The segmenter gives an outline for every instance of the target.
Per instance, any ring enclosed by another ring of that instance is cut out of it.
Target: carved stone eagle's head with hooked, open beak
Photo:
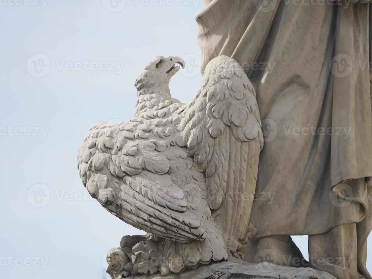
[[[179,57],[170,56],[165,58],[157,56],[149,62],[136,78],[134,86],[137,89],[138,96],[143,94],[154,94],[165,91],[169,94],[169,81],[180,69],[185,68],[185,61]]]

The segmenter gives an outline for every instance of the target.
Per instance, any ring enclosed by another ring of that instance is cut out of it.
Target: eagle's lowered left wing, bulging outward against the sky
[[[184,243],[204,240],[200,219],[186,211],[183,191],[167,174],[170,162],[161,151],[170,142],[150,132],[151,125],[138,118],[92,125],[78,151],[83,184],[104,208],[138,229]],[[182,148],[173,152],[187,157]]]

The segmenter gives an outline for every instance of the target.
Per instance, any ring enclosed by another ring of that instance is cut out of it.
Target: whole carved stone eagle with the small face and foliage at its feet
[[[243,68],[219,56],[196,96],[173,99],[170,78],[185,62],[158,56],[135,81],[134,118],[97,122],[78,151],[90,195],[144,236],[107,255],[112,278],[194,269],[244,257],[263,135],[256,93]],[[132,238],[132,239],[131,239]]]

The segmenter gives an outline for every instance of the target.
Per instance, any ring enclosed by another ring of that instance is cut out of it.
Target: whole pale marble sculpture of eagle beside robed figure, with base
[[[195,98],[171,98],[185,62],[157,57],[134,118],[93,124],[78,152],[90,195],[147,232],[124,236],[107,272],[372,279],[369,0],[204,3]],[[308,259],[291,235],[309,236]]]

